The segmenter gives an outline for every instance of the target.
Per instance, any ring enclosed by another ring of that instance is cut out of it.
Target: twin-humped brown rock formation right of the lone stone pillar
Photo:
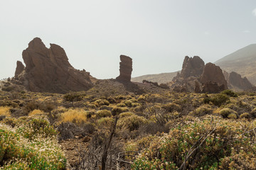
[[[227,81],[220,67],[204,64],[200,57],[185,57],[181,74],[169,84],[177,92],[218,93],[228,89]]]

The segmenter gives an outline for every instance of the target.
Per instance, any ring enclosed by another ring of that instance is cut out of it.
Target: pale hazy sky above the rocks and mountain
[[[255,0],[1,0],[0,79],[35,37],[65,49],[70,64],[97,79],[119,75],[119,55],[132,77],[174,72],[183,58],[215,62],[256,43]]]

